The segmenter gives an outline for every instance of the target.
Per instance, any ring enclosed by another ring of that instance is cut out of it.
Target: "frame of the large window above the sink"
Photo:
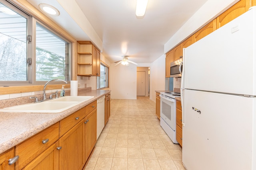
[[[56,37],[62,39],[63,41],[66,41],[69,43],[69,59],[68,59],[68,80],[72,80],[72,70],[73,70],[73,62],[72,58],[74,56],[74,38],[73,37],[67,37],[66,32],[62,33],[64,31],[63,29],[58,30],[59,26],[58,25],[52,25],[51,23],[48,23],[47,20],[42,19],[42,15],[35,15],[33,11],[30,11],[31,14],[28,14],[26,10],[22,6],[18,6],[12,2],[9,2],[8,0],[0,0],[2,4],[7,6],[8,8],[14,10],[16,13],[20,14],[24,18],[27,19],[27,29],[26,29],[26,34],[27,35],[32,35],[32,43],[28,43],[26,41],[26,59],[32,58],[32,68],[27,65],[27,81],[0,81],[0,86],[30,86],[30,85],[42,85],[45,84],[47,81],[36,81],[36,23],[39,23],[42,25],[44,28],[46,28],[48,31],[53,33]],[[21,8],[22,7],[22,8]],[[25,6],[25,9],[29,9],[28,7]],[[37,17],[34,17],[37,16]],[[54,27],[57,26],[57,27]],[[27,36],[26,35],[26,36]],[[71,38],[71,40],[70,40]],[[66,78],[65,78],[66,79]],[[61,82],[53,82],[52,84],[62,84]]]

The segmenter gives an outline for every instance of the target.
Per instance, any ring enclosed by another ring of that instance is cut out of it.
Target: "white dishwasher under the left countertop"
[[[105,126],[105,95],[97,100],[97,139]]]

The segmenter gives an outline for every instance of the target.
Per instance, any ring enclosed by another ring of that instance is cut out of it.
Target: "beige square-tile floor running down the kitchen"
[[[184,170],[182,149],[160,126],[152,100],[110,104],[111,116],[84,170]]]

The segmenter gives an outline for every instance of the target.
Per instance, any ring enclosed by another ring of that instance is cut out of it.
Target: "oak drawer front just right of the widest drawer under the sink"
[[[60,137],[85,117],[85,107],[60,121]]]

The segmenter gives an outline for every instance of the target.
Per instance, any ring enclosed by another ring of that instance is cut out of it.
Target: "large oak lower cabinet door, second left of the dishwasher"
[[[64,134],[60,139],[60,170],[81,170],[85,164],[84,119]]]

